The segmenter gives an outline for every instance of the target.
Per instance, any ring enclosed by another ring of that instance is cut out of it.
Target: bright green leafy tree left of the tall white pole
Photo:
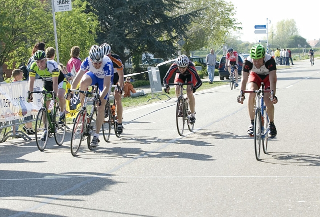
[[[39,0],[0,0],[0,5],[0,66],[7,61],[11,67],[30,55],[35,42],[48,40],[52,15]]]

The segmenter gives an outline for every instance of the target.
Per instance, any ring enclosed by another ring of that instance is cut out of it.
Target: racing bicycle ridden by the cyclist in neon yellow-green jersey
[[[35,119],[35,142],[40,151],[45,149],[48,138],[54,135],[54,140],[58,146],[61,146],[65,137],[65,118],[64,122],[59,124],[60,108],[54,99],[54,91],[28,91],[28,99],[30,94],[39,94],[41,96],[42,107],[39,109]],[[46,102],[53,100],[52,111],[46,108]],[[46,133],[45,133],[46,132]]]

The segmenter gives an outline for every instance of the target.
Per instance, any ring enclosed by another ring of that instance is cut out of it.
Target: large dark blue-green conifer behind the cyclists
[[[88,0],[87,11],[98,16],[101,32],[97,41],[110,44],[120,58],[127,60],[141,53],[159,58],[175,54],[175,43],[185,35],[191,19],[199,11],[170,16],[181,11],[179,0]],[[93,9],[94,8],[94,9]],[[124,49],[129,53],[124,56]]]

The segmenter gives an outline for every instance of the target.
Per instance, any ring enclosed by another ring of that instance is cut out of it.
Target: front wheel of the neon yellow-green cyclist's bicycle
[[[44,132],[45,135],[44,135]],[[42,137],[44,135],[44,137]],[[46,117],[46,109],[44,107],[40,108],[35,119],[35,143],[40,151],[43,151],[46,144],[48,143],[49,129],[48,120]]]

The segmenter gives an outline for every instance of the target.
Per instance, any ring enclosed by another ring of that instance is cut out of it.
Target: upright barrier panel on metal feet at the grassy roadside
[[[158,67],[148,67],[148,76],[149,76],[149,81],[150,81],[150,88],[151,88],[151,95],[152,98],[148,99],[147,102],[151,99],[159,99],[161,100],[158,96],[164,95],[167,96],[169,99],[171,99],[167,94],[162,93],[162,84],[161,84],[161,78],[160,78],[160,72]],[[155,93],[160,93],[157,94],[156,96],[153,96]]]

